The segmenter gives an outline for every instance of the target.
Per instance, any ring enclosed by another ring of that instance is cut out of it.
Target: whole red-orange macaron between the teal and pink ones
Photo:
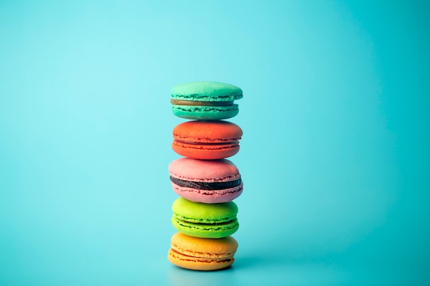
[[[173,128],[172,149],[181,156],[215,160],[239,151],[242,129],[229,121],[187,121]]]

